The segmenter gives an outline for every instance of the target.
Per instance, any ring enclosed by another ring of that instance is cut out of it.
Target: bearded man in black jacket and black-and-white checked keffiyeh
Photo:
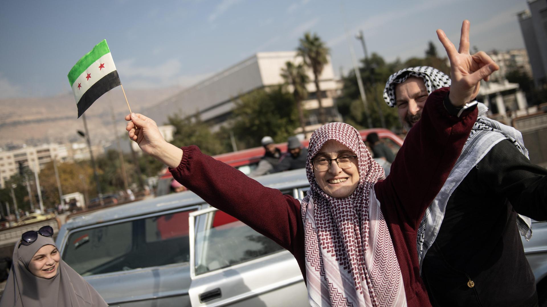
[[[435,68],[405,68],[389,77],[383,96],[410,130],[429,94],[450,84]],[[530,163],[519,131],[477,107],[462,153],[418,228],[420,273],[433,306],[537,306],[520,235],[532,236],[529,217],[547,220],[547,170]]]

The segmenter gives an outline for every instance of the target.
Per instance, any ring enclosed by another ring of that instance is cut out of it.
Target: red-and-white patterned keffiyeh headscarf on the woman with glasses
[[[357,155],[359,184],[346,198],[317,184],[311,158],[328,140]],[[312,306],[406,306],[401,270],[374,184],[385,178],[357,129],[328,123],[313,132],[306,161],[311,188],[302,200],[306,279]]]

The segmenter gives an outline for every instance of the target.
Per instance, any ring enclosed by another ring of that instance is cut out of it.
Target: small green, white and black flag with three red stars
[[[68,81],[78,105],[78,118],[104,93],[121,85],[106,39],[80,58],[68,73]]]

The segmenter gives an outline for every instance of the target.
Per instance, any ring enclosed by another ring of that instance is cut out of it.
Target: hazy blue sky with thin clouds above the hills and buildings
[[[344,4],[342,14],[341,3]],[[463,19],[481,50],[523,48],[515,14],[526,0],[2,1],[0,98],[70,92],[67,73],[106,38],[125,88],[188,86],[258,51],[294,50],[305,31],[331,48],[335,73],[351,67],[353,38],[386,60],[423,56],[442,28],[457,46]]]

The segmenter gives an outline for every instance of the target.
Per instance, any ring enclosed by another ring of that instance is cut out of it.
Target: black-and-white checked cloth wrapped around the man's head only
[[[383,89],[383,99],[389,107],[395,107],[395,86],[411,76],[423,79],[429,95],[441,87],[450,86],[450,77],[433,67],[418,66],[401,69],[389,76],[386,87]]]

